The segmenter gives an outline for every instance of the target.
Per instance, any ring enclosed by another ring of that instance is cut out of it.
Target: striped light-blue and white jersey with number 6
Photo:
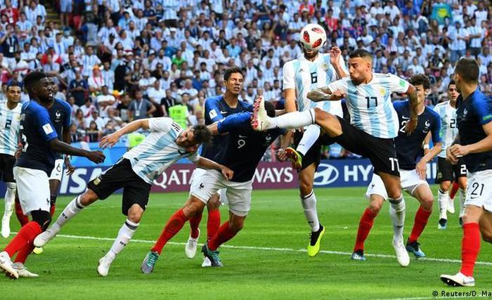
[[[340,56],[339,63],[344,67],[344,59]],[[309,91],[328,86],[337,80],[337,72],[330,63],[329,53],[319,53],[313,60],[306,60],[304,56],[290,60],[283,66],[283,89],[295,89],[299,112],[319,107],[332,115],[343,117],[342,104],[339,101],[313,102],[307,98]]]

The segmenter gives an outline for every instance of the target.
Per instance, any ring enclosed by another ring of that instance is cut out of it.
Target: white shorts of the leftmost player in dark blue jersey
[[[45,171],[13,167],[13,176],[24,214],[30,214],[34,210],[49,211],[49,181]]]

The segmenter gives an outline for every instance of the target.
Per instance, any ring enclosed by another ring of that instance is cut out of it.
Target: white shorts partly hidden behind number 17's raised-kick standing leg
[[[422,180],[415,170],[402,170],[400,169],[400,181],[401,188],[410,195],[418,188],[419,185],[429,185],[427,181]],[[368,190],[365,192],[365,197],[370,199],[370,195],[380,195],[384,200],[388,200],[388,193],[384,188],[384,183],[379,175],[373,174],[373,179],[368,185]]]

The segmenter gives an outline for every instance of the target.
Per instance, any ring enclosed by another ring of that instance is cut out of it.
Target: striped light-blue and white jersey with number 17
[[[406,93],[409,85],[408,81],[393,74],[373,73],[368,84],[355,85],[345,77],[329,84],[328,89],[345,93],[350,122],[357,129],[376,138],[396,138],[399,121],[391,103],[391,93]]]

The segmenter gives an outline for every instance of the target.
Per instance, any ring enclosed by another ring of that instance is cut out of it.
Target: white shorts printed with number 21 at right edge
[[[484,207],[492,212],[492,170],[468,173],[467,200],[465,206]]]

